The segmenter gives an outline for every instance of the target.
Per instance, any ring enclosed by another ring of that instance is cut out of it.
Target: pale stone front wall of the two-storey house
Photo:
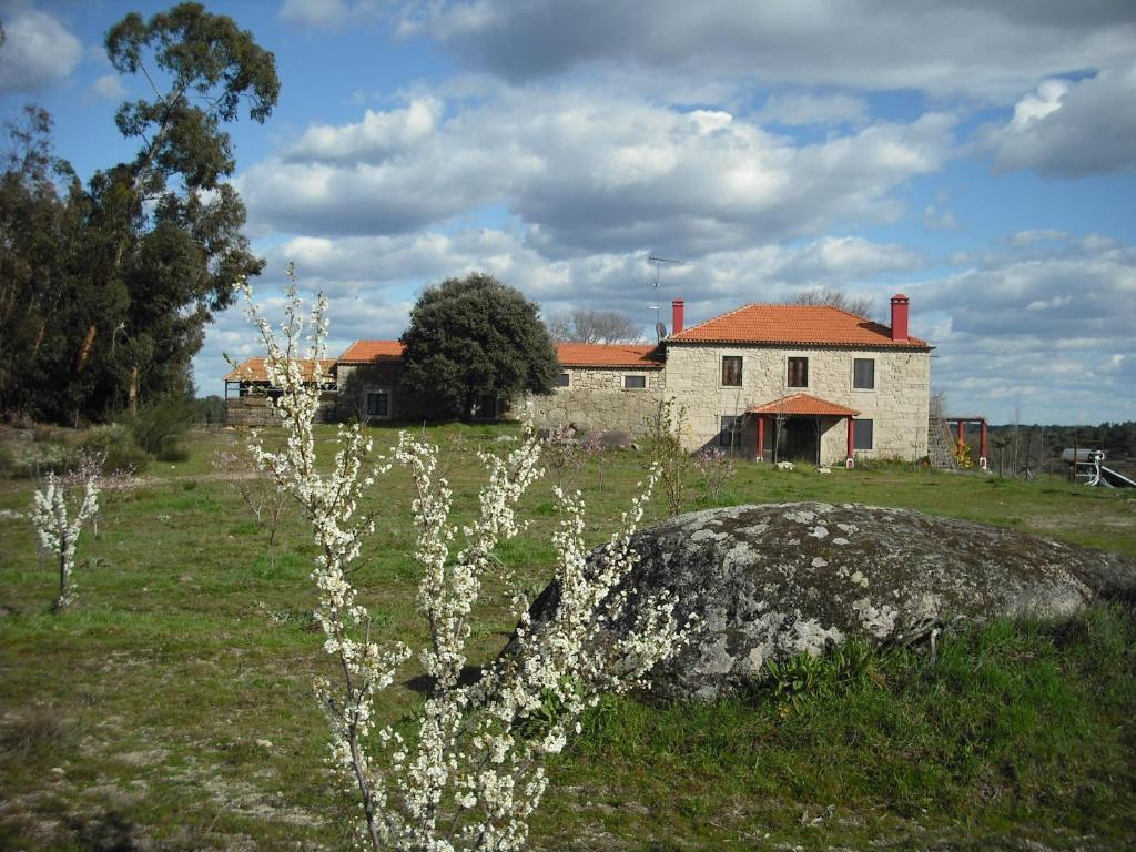
[[[721,385],[722,356],[742,356],[741,387]],[[790,357],[809,359],[808,387],[786,386],[786,359]],[[875,390],[852,389],[854,358],[875,359]],[[674,396],[686,409],[683,443],[690,450],[717,445],[724,415],[741,415],[746,408],[804,392],[855,409],[860,411],[859,419],[872,420],[874,446],[858,453],[904,459],[927,454],[928,352],[671,344],[667,346],[666,370],[666,395]],[[767,432],[770,425],[767,419]],[[845,457],[846,420],[821,418],[821,429],[822,461],[840,463]],[[752,416],[746,418],[740,437],[740,452],[753,458],[757,425]]]

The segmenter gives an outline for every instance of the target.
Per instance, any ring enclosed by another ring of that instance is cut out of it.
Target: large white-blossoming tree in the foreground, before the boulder
[[[319,680],[317,694],[331,722],[333,766],[360,803],[360,840],[374,850],[519,849],[548,783],[541,758],[563,749],[579,730],[580,713],[602,693],[643,685],[650,669],[685,641],[690,625],[676,624],[670,596],[653,598],[632,616],[620,586],[637,560],[632,534],[657,474],[592,559],[584,548],[578,493],[553,490],[561,510],[553,535],[560,605],[550,620],[533,624],[528,601],[515,588],[519,624],[508,653],[486,665],[475,683],[460,683],[471,613],[486,574],[500,565],[494,548],[521,528],[517,501],[541,476],[540,441],[528,429],[512,452],[481,454],[488,482],[475,519],[466,525],[451,517],[452,492],[438,473],[437,449],[406,433],[389,458],[368,467],[370,440],[357,423],[341,426],[334,463],[321,470],[312,435],[320,376],[306,384],[300,371],[304,320],[294,283],[279,334],[260,316],[248,286],[245,298],[266,348],[268,378],[282,392],[272,409],[286,433],[279,450],[267,450],[258,433],[251,446],[277,485],[299,502],[318,546],[316,616],[337,675],[335,683]],[[325,354],[326,310],[320,296],[302,356],[317,371]],[[412,651],[373,635],[370,615],[351,580],[374,529],[373,519],[360,515],[360,496],[395,463],[409,470],[416,493],[414,556],[423,571],[417,602],[429,636],[418,659],[433,684],[412,737],[381,725],[376,707]],[[632,618],[635,629],[626,638],[605,635],[605,624]]]

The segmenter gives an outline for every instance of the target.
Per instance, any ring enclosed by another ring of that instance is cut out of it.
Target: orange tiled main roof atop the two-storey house
[[[894,341],[887,326],[855,314],[810,304],[746,304],[673,334],[667,342],[930,348],[918,337]]]

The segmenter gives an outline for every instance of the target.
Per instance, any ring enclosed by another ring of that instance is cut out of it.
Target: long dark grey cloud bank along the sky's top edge
[[[1136,7],[1110,0],[657,0],[649,11],[618,0],[423,0],[403,9],[401,33],[434,37],[512,81],[615,64],[1003,100],[1039,77],[1126,61],[1136,41]]]

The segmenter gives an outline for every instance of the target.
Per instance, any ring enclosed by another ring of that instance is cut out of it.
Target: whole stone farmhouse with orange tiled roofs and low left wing
[[[673,399],[691,451],[717,446],[758,461],[850,466],[858,456],[927,454],[932,346],[908,334],[905,295],[892,299],[891,326],[836,308],[747,304],[685,328],[683,301],[673,308],[674,331],[658,344],[558,343],[562,371],[551,395],[488,398],[478,414],[495,419],[524,407],[538,426],[637,433]],[[251,410],[243,400],[253,384],[241,384],[241,375],[262,376],[257,360],[226,376],[231,423]],[[398,341],[357,341],[329,374],[328,419],[435,416],[431,400],[401,387]]]

